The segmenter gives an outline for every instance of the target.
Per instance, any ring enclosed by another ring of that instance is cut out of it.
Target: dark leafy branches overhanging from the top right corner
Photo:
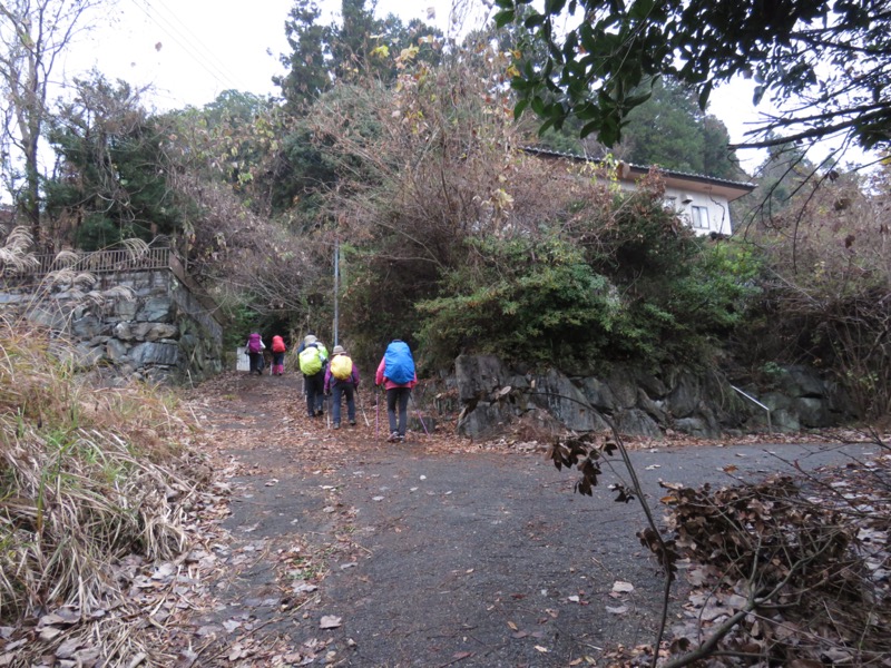
[[[496,21],[507,24],[530,0],[497,2]],[[787,112],[741,146],[833,137],[866,149],[891,144],[889,0],[554,0],[523,26],[531,41],[547,42],[548,58],[539,66],[520,57],[515,111],[531,107],[542,128],[575,115],[582,136],[613,145],[649,96],[642,84],[674,77],[695,87],[705,109],[716,86],[745,75],[757,81],[755,104],[767,95]]]

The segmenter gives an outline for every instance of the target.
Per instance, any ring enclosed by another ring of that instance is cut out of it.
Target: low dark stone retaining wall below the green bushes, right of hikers
[[[658,373],[613,365],[603,376],[570,377],[559,371],[520,373],[491,355],[462,355],[448,381],[457,390],[459,433],[490,438],[517,419],[536,414],[576,432],[660,438],[668,430],[702,438],[767,428],[767,412],[743,399],[719,372],[668,367]],[[770,391],[742,387],[771,409],[775,431],[850,421],[852,411],[835,384],[813,370],[784,370]]]

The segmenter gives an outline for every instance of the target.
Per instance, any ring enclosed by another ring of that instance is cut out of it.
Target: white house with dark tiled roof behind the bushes
[[[562,159],[574,163],[601,160],[556,150],[526,147],[523,150],[546,159]],[[649,167],[619,163],[616,170],[619,185],[633,190],[637,181],[649,173]],[[687,222],[697,235],[730,235],[733,233],[730,203],[755,189],[755,184],[733,181],[723,178],[686,174],[662,169],[665,181],[665,204]]]

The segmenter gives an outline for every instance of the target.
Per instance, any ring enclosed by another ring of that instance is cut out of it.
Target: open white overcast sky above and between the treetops
[[[332,14],[341,7],[340,0],[319,4]],[[482,0],[457,4],[379,0],[376,13],[396,13],[405,22],[420,18],[452,35],[486,13]],[[109,79],[151,85],[147,101],[157,109],[200,107],[227,89],[277,94],[272,77],[284,73],[280,56],[288,51],[284,22],[292,6],[293,0],[117,0],[114,10],[96,18],[56,76],[70,79],[96,67]],[[466,18],[453,23],[453,17]],[[744,139],[746,124],[757,118],[753,86],[740,81],[712,95],[709,111],[724,121],[734,143]],[[740,157],[751,173],[763,153],[743,151]]]

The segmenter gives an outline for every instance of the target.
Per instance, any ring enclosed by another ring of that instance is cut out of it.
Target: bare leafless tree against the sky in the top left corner
[[[0,87],[3,143],[21,154],[23,186],[14,177],[13,158],[2,151],[8,187],[40,244],[39,144],[47,118],[50,77],[60,53],[71,43],[87,12],[106,0],[0,1]]]

